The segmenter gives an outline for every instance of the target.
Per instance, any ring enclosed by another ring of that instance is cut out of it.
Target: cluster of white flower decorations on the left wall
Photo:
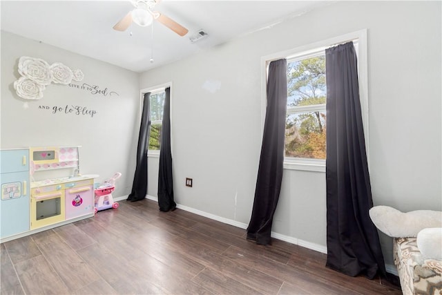
[[[20,57],[19,74],[22,77],[14,82],[14,89],[24,99],[41,99],[44,89],[51,82],[67,85],[72,80],[81,81],[84,78],[79,69],[71,70],[60,62],[49,65],[35,57]]]

